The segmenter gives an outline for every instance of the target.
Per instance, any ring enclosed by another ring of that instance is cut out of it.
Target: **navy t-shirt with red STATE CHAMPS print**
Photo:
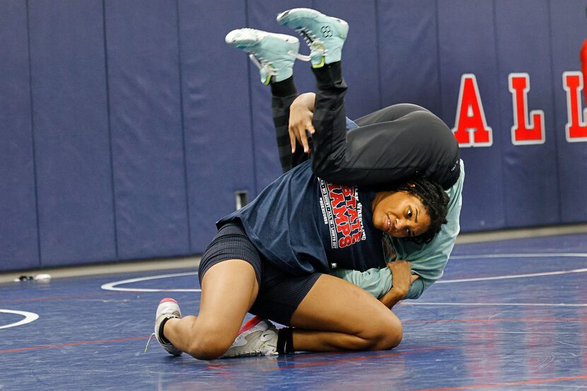
[[[239,220],[257,250],[291,274],[385,267],[383,233],[373,226],[374,192],[332,185],[310,161],[267,186],[250,204],[216,223]]]

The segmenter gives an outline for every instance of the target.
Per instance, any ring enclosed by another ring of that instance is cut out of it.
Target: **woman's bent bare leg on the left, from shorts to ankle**
[[[234,342],[258,292],[255,270],[248,262],[231,259],[215,264],[202,280],[199,315],[168,320],[163,334],[195,358],[218,358]]]

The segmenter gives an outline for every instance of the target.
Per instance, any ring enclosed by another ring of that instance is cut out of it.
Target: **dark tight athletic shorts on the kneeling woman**
[[[314,286],[320,273],[294,276],[270,264],[252,244],[243,226],[234,221],[222,226],[199,263],[199,282],[219,262],[243,259],[255,269],[259,294],[249,313],[289,326],[291,315]]]

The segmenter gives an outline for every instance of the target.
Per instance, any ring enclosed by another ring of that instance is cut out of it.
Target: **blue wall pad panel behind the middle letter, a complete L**
[[[499,0],[495,6],[499,101],[504,103],[499,129],[504,137],[496,148],[501,150],[504,158],[506,226],[557,223],[558,162],[548,2]],[[579,47],[572,49],[579,50]],[[544,110],[545,144],[514,146],[511,142],[513,110],[508,74],[512,72],[530,75],[528,110]],[[557,85],[560,88],[561,84]]]

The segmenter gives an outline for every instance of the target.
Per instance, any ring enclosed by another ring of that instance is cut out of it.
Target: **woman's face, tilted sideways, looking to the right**
[[[378,192],[371,209],[373,226],[395,238],[422,235],[430,228],[422,201],[407,192]]]

